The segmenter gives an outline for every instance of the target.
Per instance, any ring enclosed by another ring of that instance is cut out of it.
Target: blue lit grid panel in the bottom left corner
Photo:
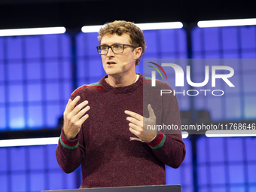
[[[68,175],[60,169],[55,150],[56,145],[0,148],[0,191],[78,188],[76,172]]]

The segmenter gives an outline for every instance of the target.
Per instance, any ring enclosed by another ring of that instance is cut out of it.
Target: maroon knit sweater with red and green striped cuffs
[[[84,85],[72,93],[89,101],[89,118],[83,123],[77,139],[67,139],[63,132],[56,148],[56,159],[64,172],[73,172],[81,165],[86,187],[120,187],[166,184],[164,164],[178,168],[184,160],[185,146],[181,130],[160,132],[149,142],[130,141],[136,137],[129,130],[125,110],[149,117],[148,104],[154,109],[157,124],[180,127],[178,102],[175,96],[160,90],[170,90],[168,84],[139,75],[138,81],[127,87],[111,87],[102,78],[96,84]],[[150,91],[144,90],[148,87]],[[144,109],[144,110],[143,110]],[[143,113],[144,111],[144,113]],[[174,134],[175,133],[175,134]]]

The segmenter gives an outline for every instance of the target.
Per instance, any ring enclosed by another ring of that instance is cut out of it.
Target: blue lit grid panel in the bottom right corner
[[[249,190],[255,184],[256,140],[250,137],[206,138],[197,141],[200,191]],[[250,169],[249,169],[250,168]],[[252,170],[251,170],[252,169]]]

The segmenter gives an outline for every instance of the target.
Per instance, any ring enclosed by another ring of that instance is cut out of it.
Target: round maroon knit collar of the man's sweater
[[[144,80],[144,76],[142,74],[138,74],[139,75],[139,79],[138,81],[136,81],[134,84],[130,84],[129,86],[126,87],[112,87],[111,85],[109,85],[106,81],[105,78],[108,78],[108,75],[105,75],[100,81],[99,83],[102,84],[102,87],[105,90],[108,90],[112,93],[129,93],[132,92],[134,90],[138,90],[139,87],[142,87],[142,83]]]

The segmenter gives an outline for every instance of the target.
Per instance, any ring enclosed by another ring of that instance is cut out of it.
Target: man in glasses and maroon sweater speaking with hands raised
[[[56,159],[64,172],[81,165],[81,188],[166,184],[165,164],[184,160],[181,130],[147,129],[148,125],[181,127],[175,96],[156,99],[156,88],[143,99],[151,80],[136,74],[145,52],[142,30],[126,21],[106,23],[99,31],[99,55],[107,75],[72,93]],[[171,89],[157,81],[159,89]]]

